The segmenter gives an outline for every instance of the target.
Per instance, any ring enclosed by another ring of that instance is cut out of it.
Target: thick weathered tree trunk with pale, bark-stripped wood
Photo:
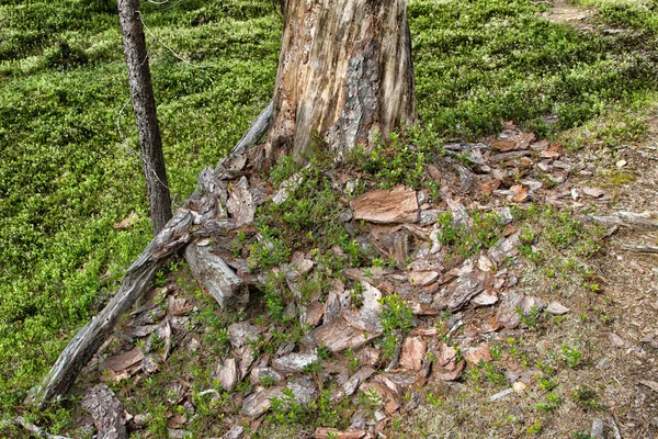
[[[405,0],[283,0],[285,27],[268,144],[304,161],[318,133],[342,154],[416,121]]]

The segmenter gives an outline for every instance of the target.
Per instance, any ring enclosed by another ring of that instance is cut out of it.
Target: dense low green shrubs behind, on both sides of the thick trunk
[[[149,239],[115,7],[0,0],[2,412],[19,407]],[[625,50],[552,24],[542,8],[529,0],[409,4],[428,132],[475,138],[514,120],[552,134],[655,89],[644,47]],[[281,15],[266,0],[145,2],[143,15],[180,201],[269,100]],[[394,173],[379,168],[373,173]],[[132,211],[136,225],[114,226]]]

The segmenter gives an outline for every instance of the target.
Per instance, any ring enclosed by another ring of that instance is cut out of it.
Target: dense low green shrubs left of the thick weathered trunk
[[[20,403],[149,239],[115,2],[0,7],[0,407]],[[280,16],[266,1],[145,3],[174,200],[270,98]],[[161,10],[161,11],[160,11]],[[69,57],[65,57],[70,48]],[[113,227],[132,211],[129,230]],[[92,309],[93,308],[93,309]]]

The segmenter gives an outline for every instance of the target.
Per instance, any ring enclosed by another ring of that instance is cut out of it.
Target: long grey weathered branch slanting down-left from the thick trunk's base
[[[202,171],[198,183],[201,192],[186,200],[182,209],[173,215],[164,228],[150,241],[137,260],[128,268],[121,288],[99,315],[94,316],[72,338],[59,358],[43,379],[33,387],[26,402],[43,407],[47,402],[64,395],[76,381],[82,368],[113,334],[121,315],[129,309],[167,260],[181,251],[189,243],[235,227],[232,221],[215,219],[203,214],[212,211],[222,198],[220,180],[231,178],[234,172],[245,167],[247,148],[253,145],[268,131],[272,115],[270,103],[251,124],[231,153],[212,170]],[[231,282],[236,282],[231,279]]]

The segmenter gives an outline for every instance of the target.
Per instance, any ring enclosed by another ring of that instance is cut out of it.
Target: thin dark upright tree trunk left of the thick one
[[[118,19],[128,66],[128,81],[133,93],[133,110],[139,135],[139,150],[146,177],[150,216],[154,223],[154,234],[157,235],[171,218],[171,199],[162,154],[162,138],[156,115],[156,100],[148,67],[139,0],[120,0]]]

